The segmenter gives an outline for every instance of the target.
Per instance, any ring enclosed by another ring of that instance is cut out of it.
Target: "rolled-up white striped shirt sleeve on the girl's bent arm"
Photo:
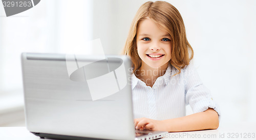
[[[189,104],[194,113],[213,108],[221,118],[220,107],[212,98],[210,91],[203,85],[196,69],[190,64],[184,69],[185,102]]]

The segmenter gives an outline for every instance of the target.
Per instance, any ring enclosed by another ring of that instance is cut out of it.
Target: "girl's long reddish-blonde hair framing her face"
[[[134,71],[141,67],[136,34],[139,22],[146,18],[158,23],[172,37],[172,59],[170,59],[169,64],[178,69],[179,72],[177,74],[179,74],[181,69],[189,65],[189,61],[193,59],[194,51],[187,41],[184,22],[179,11],[167,2],[146,2],[140,6],[132,21],[123,54],[131,57]]]

